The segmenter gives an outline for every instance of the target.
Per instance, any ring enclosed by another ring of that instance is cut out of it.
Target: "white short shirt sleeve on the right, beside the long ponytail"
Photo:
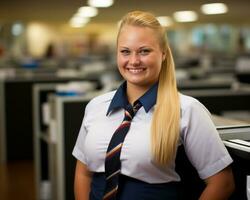
[[[191,103],[182,114],[185,151],[202,179],[216,174],[232,163],[210,113],[199,101]]]

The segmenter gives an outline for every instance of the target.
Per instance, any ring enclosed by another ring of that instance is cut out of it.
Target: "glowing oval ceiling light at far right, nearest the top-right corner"
[[[224,3],[203,4],[201,11],[206,15],[223,14],[228,11],[227,5]]]

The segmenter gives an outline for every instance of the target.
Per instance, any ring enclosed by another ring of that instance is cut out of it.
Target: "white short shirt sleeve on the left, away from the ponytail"
[[[85,114],[84,114],[84,117],[83,117],[81,128],[80,128],[80,131],[78,133],[78,137],[77,137],[76,144],[74,146],[72,155],[77,160],[80,160],[82,163],[87,165],[87,158],[86,158],[86,156],[84,154],[85,137],[87,135],[87,129],[86,129],[86,126],[85,126],[86,118],[87,118],[87,106],[86,106],[86,109],[85,109]]]

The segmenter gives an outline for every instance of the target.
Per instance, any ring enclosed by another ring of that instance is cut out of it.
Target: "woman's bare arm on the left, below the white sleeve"
[[[76,163],[74,191],[76,200],[89,200],[90,183],[92,173],[87,166],[80,162]]]

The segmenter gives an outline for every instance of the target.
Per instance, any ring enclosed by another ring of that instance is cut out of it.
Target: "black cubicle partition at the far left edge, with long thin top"
[[[0,80],[0,161],[33,159],[32,87],[36,83],[94,81],[98,77],[15,77]]]

